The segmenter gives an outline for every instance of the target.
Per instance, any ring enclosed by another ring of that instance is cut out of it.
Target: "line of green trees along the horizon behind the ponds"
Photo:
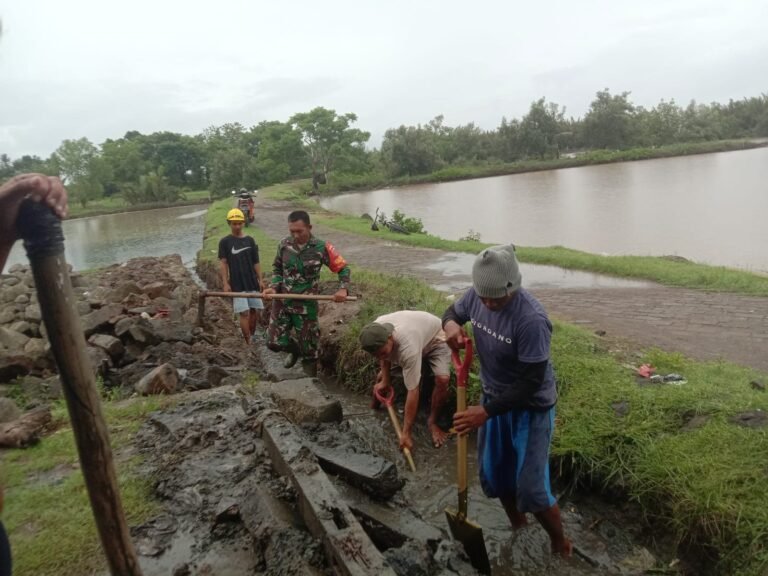
[[[331,173],[386,177],[430,174],[448,166],[558,158],[590,149],[622,150],[675,143],[768,137],[768,94],[727,104],[674,100],[651,108],[633,104],[630,93],[601,90],[581,118],[541,98],[522,118],[502,118],[498,128],[474,123],[447,126],[443,116],[426,124],[386,131],[379,149],[355,127],[357,116],[318,107],[287,122],[212,126],[201,134],[141,134],[95,145],[64,140],[49,158],[0,154],[0,178],[22,172],[60,176],[74,201],[85,206],[102,196],[130,203],[172,203],[184,191],[212,196],[258,188],[291,178],[311,178],[313,188]]]

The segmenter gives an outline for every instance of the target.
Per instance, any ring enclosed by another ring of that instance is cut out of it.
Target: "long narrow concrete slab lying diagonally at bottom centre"
[[[261,431],[273,466],[291,479],[304,522],[323,541],[333,570],[345,576],[395,576],[288,419],[271,412]]]

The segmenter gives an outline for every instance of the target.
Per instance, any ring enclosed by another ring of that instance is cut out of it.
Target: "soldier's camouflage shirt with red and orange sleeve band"
[[[287,236],[277,247],[272,264],[272,287],[283,294],[317,294],[323,264],[339,275],[339,288],[349,290],[349,266],[330,242],[310,236],[309,242],[299,249],[293,238]],[[285,304],[294,314],[306,314],[307,308],[316,307],[317,302],[286,300]]]

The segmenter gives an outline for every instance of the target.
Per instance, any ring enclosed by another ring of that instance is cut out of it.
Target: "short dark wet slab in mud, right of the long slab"
[[[310,445],[320,466],[377,500],[389,500],[405,484],[393,462],[375,454]]]

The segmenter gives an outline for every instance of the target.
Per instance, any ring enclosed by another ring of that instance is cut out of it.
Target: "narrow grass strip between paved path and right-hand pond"
[[[261,193],[276,200],[299,202],[302,207],[312,211],[315,222],[343,232],[452,252],[474,254],[484,247],[490,246],[490,244],[467,240],[444,240],[430,234],[397,234],[381,226],[378,232],[374,232],[371,230],[369,220],[327,212],[316,204],[313,207],[311,200],[304,195],[305,186],[304,181],[296,181],[270,186]],[[658,256],[602,256],[562,246],[518,246],[517,255],[521,262],[528,264],[546,264],[570,270],[650,280],[680,288],[768,296],[768,276],[724,266],[709,266]]]

